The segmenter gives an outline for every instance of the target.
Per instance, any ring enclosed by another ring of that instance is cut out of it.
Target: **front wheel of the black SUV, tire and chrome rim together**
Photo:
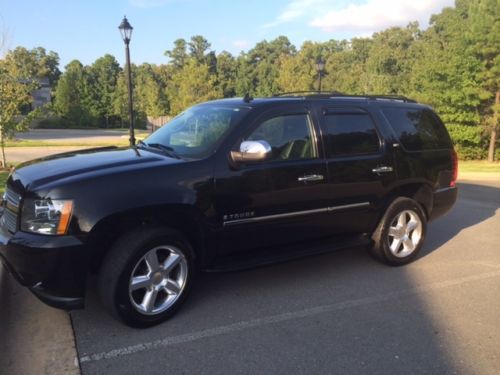
[[[134,327],[148,327],[172,316],[191,287],[194,256],[173,230],[141,228],[119,239],[99,275],[104,306]]]

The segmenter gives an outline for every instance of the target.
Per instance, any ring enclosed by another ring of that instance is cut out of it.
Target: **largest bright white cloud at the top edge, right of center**
[[[410,21],[426,25],[431,14],[454,0],[368,0],[340,10],[325,10],[323,16],[314,18],[310,25],[324,31],[372,33],[390,26],[405,26]]]

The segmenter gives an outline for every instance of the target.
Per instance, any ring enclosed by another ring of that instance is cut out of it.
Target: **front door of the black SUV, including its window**
[[[287,106],[264,113],[231,148],[239,150],[244,140],[264,140],[272,148],[265,161],[232,167],[219,159],[219,255],[326,235],[328,175],[318,134],[308,108]]]

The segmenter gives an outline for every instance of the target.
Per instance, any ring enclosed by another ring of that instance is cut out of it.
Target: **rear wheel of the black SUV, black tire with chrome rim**
[[[403,217],[402,220],[410,218],[408,224],[412,222],[412,226],[415,225],[414,223],[420,221],[420,227],[417,226],[417,229],[408,232],[406,228],[409,226],[398,226],[399,222],[396,222],[396,220],[399,217]],[[394,229],[390,231],[391,226]],[[416,232],[417,230],[418,232]],[[393,236],[396,231],[398,231],[397,236]],[[370,249],[371,254],[376,259],[391,266],[408,264],[418,256],[418,253],[422,249],[426,232],[427,219],[422,207],[413,199],[405,197],[396,198],[387,208],[377,229],[372,234],[373,246]],[[404,241],[400,241],[398,245],[397,241],[401,236],[403,236],[404,240],[409,241],[407,243],[412,244],[414,247],[413,250],[411,249],[412,246],[406,246]],[[393,245],[392,248],[391,245]]]

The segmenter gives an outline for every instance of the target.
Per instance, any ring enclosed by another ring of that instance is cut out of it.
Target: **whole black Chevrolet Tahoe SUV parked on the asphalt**
[[[367,246],[415,259],[455,203],[445,126],[404,97],[337,94],[196,105],[135,147],[60,154],[8,179],[0,259],[42,301],[84,305],[87,274],[133,326],[171,316],[198,269]]]

